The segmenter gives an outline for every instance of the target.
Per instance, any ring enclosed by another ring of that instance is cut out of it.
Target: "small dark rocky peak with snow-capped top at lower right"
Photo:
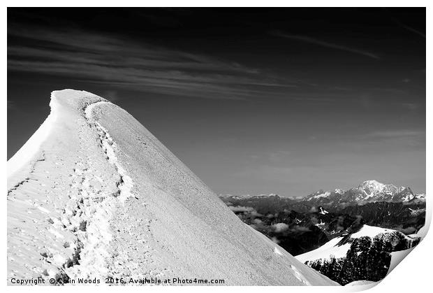
[[[358,280],[379,281],[393,265],[392,253],[406,251],[419,242],[416,235],[363,225],[358,231],[333,238],[296,258],[342,285]]]

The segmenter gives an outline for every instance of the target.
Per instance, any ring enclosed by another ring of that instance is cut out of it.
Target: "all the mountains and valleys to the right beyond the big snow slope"
[[[302,198],[220,198],[245,224],[342,285],[384,278],[391,254],[418,244],[425,225],[425,194],[376,180]]]

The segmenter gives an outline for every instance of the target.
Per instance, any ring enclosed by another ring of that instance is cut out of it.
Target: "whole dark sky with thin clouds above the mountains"
[[[425,8],[8,8],[8,158],[64,88],[217,193],[425,192]]]

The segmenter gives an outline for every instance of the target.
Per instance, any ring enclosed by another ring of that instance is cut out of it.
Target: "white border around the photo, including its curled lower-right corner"
[[[58,7],[91,7],[91,6],[124,6],[124,7],[217,7],[217,6],[227,6],[227,7],[237,7],[237,6],[256,6],[256,7],[427,7],[427,50],[426,52],[432,52],[432,44],[431,44],[431,34],[432,31],[432,17],[433,13],[431,13],[432,1],[418,1],[418,0],[411,0],[411,1],[401,1],[401,0],[364,0],[364,1],[358,1],[358,0],[352,0],[352,1],[342,1],[342,0],[328,0],[328,1],[321,1],[321,0],[314,0],[314,1],[274,1],[274,0],[267,0],[267,1],[257,1],[257,0],[250,0],[250,1],[228,1],[228,0],[219,0],[219,1],[191,1],[191,0],[184,0],[184,1],[167,1],[167,0],[160,0],[160,1],[138,1],[138,0],[123,0],[123,1],[112,1],[112,0],[105,0],[105,1],[90,1],[90,0],[75,0],[75,1],[52,1],[52,0],[39,0],[39,1],[29,1],[29,0],[22,0],[22,1],[4,1],[6,3],[6,6],[3,6],[1,19],[2,21],[2,38],[1,48],[3,49],[3,58],[1,59],[1,65],[2,65],[2,78],[1,78],[1,84],[3,85],[1,89],[3,89],[3,107],[1,107],[1,112],[3,115],[1,115],[1,119],[3,120],[3,123],[1,125],[1,137],[6,138],[7,134],[7,106],[6,106],[6,97],[7,97],[7,6],[10,7],[27,7],[27,6],[35,6],[37,3],[38,6],[58,6]],[[326,6],[324,5],[326,4]],[[430,5],[429,5],[430,4]],[[426,68],[432,68],[431,66],[431,59],[430,56],[427,54],[427,64]],[[426,97],[429,97],[426,99],[427,103],[427,113],[432,113],[432,98],[431,96],[431,86],[429,82],[432,81],[431,76],[429,75],[429,71],[426,72]],[[431,127],[432,127],[432,116],[427,115],[427,145],[426,150],[430,150],[432,147],[432,136],[431,134]],[[3,139],[3,143],[1,143],[1,150],[3,154],[6,157],[6,141]],[[427,152],[426,154],[426,171],[427,171],[427,177],[426,178],[433,178],[432,177],[432,155],[430,155],[430,152]],[[6,162],[3,163],[3,166],[0,169],[1,173],[0,176],[3,179],[2,180],[2,186],[3,190],[6,191]],[[432,185],[427,180],[427,188],[426,188],[426,194],[427,198],[430,199],[433,190]],[[429,224],[431,223],[431,215],[432,215],[432,204],[431,201],[427,199],[427,217],[426,222]],[[4,198],[3,203],[6,203],[6,197]],[[24,292],[27,290],[32,290],[32,292],[54,292],[57,291],[57,287],[42,287],[42,286],[34,286],[34,287],[13,287],[13,286],[6,286],[7,280],[6,280],[6,204],[0,205],[1,208],[1,215],[3,215],[2,224],[1,224],[1,273],[0,276],[3,276],[3,286],[5,286],[6,290],[10,292]],[[372,287],[372,289],[369,290],[369,292],[383,292],[389,291],[389,292],[426,292],[427,288],[431,287],[431,283],[433,280],[430,280],[432,278],[432,270],[433,270],[433,238],[432,233],[428,233],[425,239],[418,245],[413,252],[409,254],[409,257],[406,257],[385,279],[381,281],[378,285]],[[207,292],[227,292],[227,291],[243,291],[248,290],[251,292],[321,292],[321,293],[327,293],[327,292],[354,292],[359,290],[365,290],[367,288],[360,287],[104,287],[103,290],[107,290],[109,292],[117,292],[122,290],[131,290],[135,292],[143,292],[143,290],[149,290],[151,292],[202,292],[206,290]],[[75,292],[77,288],[75,286],[71,287],[62,287],[62,291],[64,292]],[[79,289],[82,292],[94,292],[97,290],[93,286],[88,287],[80,287]],[[431,290],[431,289],[430,289]]]

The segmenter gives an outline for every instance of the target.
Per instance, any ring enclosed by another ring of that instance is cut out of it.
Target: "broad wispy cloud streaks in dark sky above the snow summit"
[[[28,42],[8,46],[8,70],[67,76],[88,83],[207,99],[278,97],[299,80],[205,55],[83,31],[10,27]]]

